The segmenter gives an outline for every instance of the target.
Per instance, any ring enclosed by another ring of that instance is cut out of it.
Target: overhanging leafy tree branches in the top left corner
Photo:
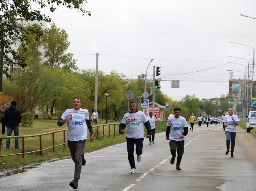
[[[17,42],[24,48],[26,41],[24,40],[28,34],[37,34],[40,38],[44,30],[42,23],[51,22],[51,18],[43,13],[41,9],[49,8],[54,12],[59,5],[68,9],[75,9],[82,15],[91,15],[90,11],[83,8],[86,0],[21,0],[21,1],[0,1],[0,92],[2,91],[3,73],[7,78],[11,78],[9,67],[13,61],[17,61],[19,67],[23,68],[28,65],[27,57],[19,53],[13,46]],[[32,7],[37,5],[37,8]],[[28,22],[37,21],[39,25],[27,27]],[[70,59],[70,55],[67,55]],[[3,64],[5,63],[5,64]]]

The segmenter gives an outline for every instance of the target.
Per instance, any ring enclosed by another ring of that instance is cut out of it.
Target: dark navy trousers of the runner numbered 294
[[[136,154],[141,155],[142,148],[143,148],[143,141],[144,141],[144,138],[140,138],[140,139],[126,138],[128,161],[130,163],[131,168],[136,168],[135,162],[134,162],[134,155],[133,155],[134,144],[136,145]]]

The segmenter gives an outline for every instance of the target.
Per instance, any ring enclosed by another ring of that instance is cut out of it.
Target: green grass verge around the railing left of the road
[[[112,122],[109,122],[112,123]],[[97,125],[105,125],[104,121],[99,121]],[[95,125],[93,125],[94,127]],[[55,130],[67,129],[67,125],[63,125],[62,127],[57,126],[57,120],[34,120],[34,124],[32,127],[19,127],[19,135],[34,135],[41,134],[47,132],[53,132]],[[102,134],[102,128],[98,128],[99,133]],[[158,122],[158,128],[156,129],[156,133],[160,133],[166,130],[166,122]],[[94,128],[95,137],[96,137],[96,129]],[[118,132],[118,126],[116,126],[115,132]],[[113,133],[113,128],[111,126],[110,133]],[[4,136],[7,133],[5,133]],[[108,134],[108,126],[105,126],[104,134]],[[146,130],[145,130],[146,134]],[[12,133],[13,135],[13,133]],[[0,135],[3,137],[3,135]],[[67,131],[66,131],[67,136]],[[55,145],[63,143],[63,132],[58,132],[54,135]],[[116,145],[118,143],[125,142],[125,134],[119,135],[115,134],[115,136],[110,135],[99,137],[98,139],[94,139],[94,141],[89,141],[89,132],[88,132],[88,140],[86,141],[85,152],[91,152],[94,150],[98,150],[101,148],[105,148],[111,145]],[[10,150],[5,149],[5,139],[3,139],[1,153],[0,155],[21,153],[21,150],[14,149],[14,139],[11,139]],[[22,138],[19,139],[19,147],[22,146]],[[48,148],[52,146],[52,134],[42,136],[42,148]],[[38,137],[29,137],[25,138],[25,152],[39,150],[39,138]],[[14,156],[6,156],[0,157],[0,171],[9,170],[13,168],[20,168],[26,165],[38,164],[44,161],[49,161],[58,158],[70,157],[70,151],[67,144],[64,146],[55,147],[53,149],[47,149],[42,151],[42,155],[39,152],[25,154],[25,157],[22,158],[22,155],[14,155]]]

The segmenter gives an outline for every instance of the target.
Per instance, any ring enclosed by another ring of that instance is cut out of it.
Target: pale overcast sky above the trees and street
[[[91,17],[61,7],[53,14],[45,11],[67,31],[68,52],[79,69],[95,69],[98,52],[99,70],[136,79],[154,59],[147,78],[154,65],[161,67],[156,77],[162,79],[161,91],[180,100],[187,94],[200,99],[226,95],[226,69],[244,79],[246,60],[252,65],[253,49],[230,42],[256,48],[256,19],[240,15],[256,18],[255,0],[88,0],[84,8]],[[180,88],[171,88],[169,80],[180,80]]]

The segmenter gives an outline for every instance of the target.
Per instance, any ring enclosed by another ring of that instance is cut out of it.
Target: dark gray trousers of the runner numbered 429
[[[74,179],[77,181],[80,179],[80,174],[82,170],[82,158],[84,155],[85,142],[86,140],[68,141],[71,157],[75,163]]]

